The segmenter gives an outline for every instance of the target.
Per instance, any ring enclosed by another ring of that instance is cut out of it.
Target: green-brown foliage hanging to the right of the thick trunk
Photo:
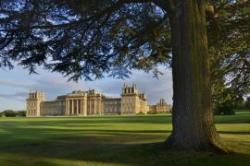
[[[250,2],[212,1],[208,40],[213,102],[238,106],[250,93]]]

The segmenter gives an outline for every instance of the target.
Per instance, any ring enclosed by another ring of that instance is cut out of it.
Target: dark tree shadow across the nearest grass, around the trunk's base
[[[74,165],[74,163],[102,163],[115,165],[161,166],[161,165],[247,165],[249,155],[216,155],[204,152],[185,152],[168,150],[163,142],[118,143],[116,135],[63,137],[50,141],[31,141],[19,146],[4,148],[1,154],[22,156],[21,159],[9,158],[7,163],[24,165],[32,158],[31,165]],[[54,162],[54,161],[59,162]],[[61,161],[61,162],[60,162]],[[39,164],[40,163],[40,164]],[[68,164],[67,164],[68,163]]]

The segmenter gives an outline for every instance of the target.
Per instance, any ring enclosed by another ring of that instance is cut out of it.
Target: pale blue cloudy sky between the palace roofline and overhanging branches
[[[163,75],[153,77],[152,73],[133,71],[130,78],[121,80],[103,78],[95,81],[78,82],[68,81],[59,73],[51,73],[44,69],[38,69],[39,74],[29,74],[27,69],[15,66],[8,70],[0,68],[0,111],[6,109],[23,110],[25,100],[31,91],[43,91],[47,100],[54,100],[59,95],[70,93],[73,90],[96,89],[106,96],[119,97],[124,83],[137,85],[144,92],[149,104],[155,104],[160,98],[164,98],[172,104],[172,74],[169,69],[161,69]]]

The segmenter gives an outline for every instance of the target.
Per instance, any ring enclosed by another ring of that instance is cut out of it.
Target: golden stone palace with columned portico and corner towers
[[[144,93],[136,85],[124,84],[120,98],[107,97],[95,90],[73,91],[45,101],[43,92],[29,93],[26,100],[27,117],[39,116],[88,116],[104,114],[147,113],[149,105]]]

